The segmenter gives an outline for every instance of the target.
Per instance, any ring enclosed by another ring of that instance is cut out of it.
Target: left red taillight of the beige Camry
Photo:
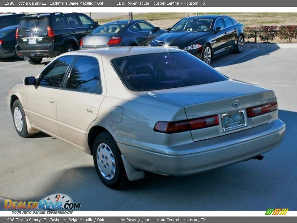
[[[176,122],[158,121],[154,127],[154,131],[161,133],[179,133],[190,130],[203,129],[216,125],[219,125],[219,119],[217,115],[213,115]]]

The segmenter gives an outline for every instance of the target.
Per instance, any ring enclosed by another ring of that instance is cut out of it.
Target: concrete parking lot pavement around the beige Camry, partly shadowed
[[[226,76],[273,89],[279,118],[286,125],[280,146],[264,159],[208,172],[171,177],[147,173],[122,190],[101,183],[93,159],[80,149],[39,133],[16,133],[6,94],[24,77],[36,76],[47,62],[0,60],[0,210],[4,199],[35,201],[63,193],[81,210],[297,210],[297,47],[246,44],[241,54],[213,60]]]

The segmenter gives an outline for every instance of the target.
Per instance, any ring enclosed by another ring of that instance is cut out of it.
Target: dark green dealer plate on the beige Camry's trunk
[[[244,110],[221,115],[223,131],[242,128],[247,125]]]

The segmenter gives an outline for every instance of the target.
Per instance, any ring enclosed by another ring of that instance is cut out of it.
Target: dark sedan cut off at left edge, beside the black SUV
[[[14,57],[19,59],[15,52],[15,31],[19,25],[0,29],[0,58]]]

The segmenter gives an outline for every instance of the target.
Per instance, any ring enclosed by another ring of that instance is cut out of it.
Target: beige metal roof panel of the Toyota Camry
[[[152,47],[152,46],[115,46],[106,48],[97,48],[89,50],[80,50],[75,52],[88,52],[100,54],[101,56],[114,59],[123,56],[141,55],[141,54],[153,54],[153,53],[164,53],[164,52],[185,52],[179,49],[167,48],[167,47]]]

